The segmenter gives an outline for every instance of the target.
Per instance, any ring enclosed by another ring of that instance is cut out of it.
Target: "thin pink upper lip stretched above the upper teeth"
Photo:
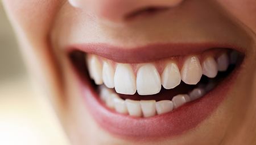
[[[88,43],[71,45],[68,50],[92,53],[117,63],[146,63],[172,56],[199,53],[211,48],[231,48],[243,51],[242,47],[228,43],[155,43],[134,48],[123,48],[104,43]]]

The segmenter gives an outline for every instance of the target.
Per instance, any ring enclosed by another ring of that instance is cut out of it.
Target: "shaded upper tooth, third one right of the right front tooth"
[[[207,57],[203,62],[203,74],[207,77],[214,78],[218,73],[218,65],[213,57]]]

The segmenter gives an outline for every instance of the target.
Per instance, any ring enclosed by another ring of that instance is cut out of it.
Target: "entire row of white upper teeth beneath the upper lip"
[[[159,74],[151,63],[140,64],[137,75],[131,64],[117,63],[114,69],[109,60],[99,59],[96,55],[88,55],[87,63],[90,77],[97,85],[104,83],[121,94],[135,94],[137,91],[140,95],[151,95],[159,93],[161,85],[165,89],[172,89],[179,85],[181,80],[186,84],[197,84],[202,74],[214,78],[218,71],[226,71],[229,57],[222,53],[216,60],[209,56],[200,63],[197,56],[189,56],[181,70],[174,61],[169,61],[162,74]]]

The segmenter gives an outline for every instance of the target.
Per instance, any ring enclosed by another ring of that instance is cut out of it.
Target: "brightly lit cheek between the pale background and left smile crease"
[[[61,1],[3,0],[3,4],[18,36],[28,71],[33,74],[32,78],[41,85],[43,91],[52,96],[61,96],[61,85],[58,84],[60,75],[48,43],[49,32]],[[57,101],[53,104],[57,104]]]

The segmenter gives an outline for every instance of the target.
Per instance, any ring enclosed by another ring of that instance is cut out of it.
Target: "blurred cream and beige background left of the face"
[[[31,86],[0,2],[0,144],[68,144],[46,97]]]

